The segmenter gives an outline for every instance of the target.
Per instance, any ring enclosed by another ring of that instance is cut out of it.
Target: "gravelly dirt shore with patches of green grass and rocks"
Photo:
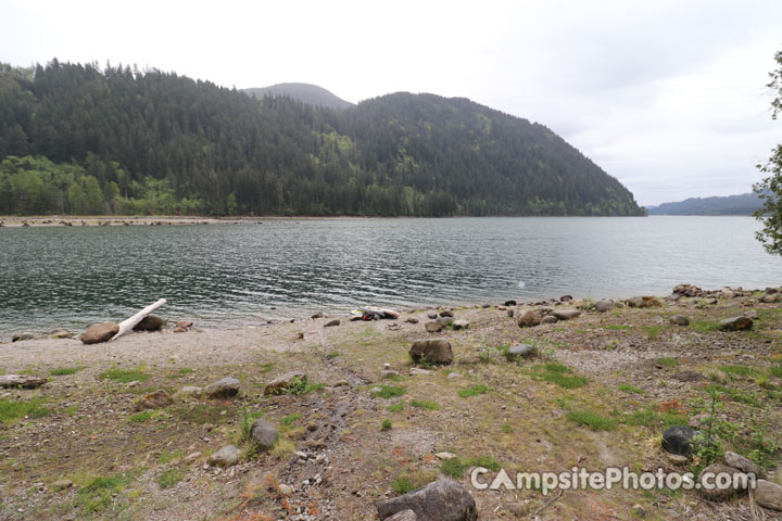
[[[417,309],[398,320],[339,317],[328,328],[335,317],[166,329],[96,345],[1,343],[0,371],[49,382],[0,390],[0,519],[375,520],[379,499],[442,475],[467,486],[481,520],[782,519],[758,513],[747,496],[711,503],[695,491],[543,495],[470,485],[475,467],[489,476],[500,468],[698,470],[709,455],[677,467],[660,440],[667,427],[703,415],[715,418],[719,450],[755,459],[779,482],[782,304],[759,303],[761,295],[583,310],[534,328],[492,305],[455,308],[469,328],[439,333],[426,332],[429,310]],[[717,328],[747,312],[758,315],[751,331]],[[669,323],[673,315],[690,325]],[[411,374],[409,346],[427,338],[449,340],[455,359]],[[508,360],[519,343],[538,355]],[[382,378],[384,364],[400,376]],[[264,396],[269,381],[293,370],[307,376],[305,387]],[[241,381],[237,398],[135,410],[155,390],[226,376]],[[269,453],[244,435],[260,417],[280,431]],[[210,455],[228,444],[242,449],[240,462],[211,467]],[[457,459],[436,456],[442,452]]]

